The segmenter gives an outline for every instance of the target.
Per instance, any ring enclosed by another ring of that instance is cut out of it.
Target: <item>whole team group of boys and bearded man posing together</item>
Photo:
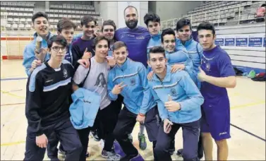
[[[154,160],[171,160],[175,136],[182,128],[183,160],[227,160],[230,105],[226,88],[236,86],[228,54],[214,44],[212,23],[200,23],[199,43],[191,22],[182,18],[176,30],[160,28],[156,13],[138,25],[134,6],[124,9],[126,27],[116,30],[105,20],[83,16],[83,33],[75,24],[59,20],[57,35],[49,32],[47,14],[32,16],[34,40],[25,47],[23,66],[28,74],[25,115],[28,119],[24,160],[86,160],[89,133],[104,141],[102,157],[132,160],[139,155],[131,133],[140,123],[138,140],[145,150],[144,131],[152,142]],[[42,37],[42,50],[36,49]],[[44,60],[38,59],[43,55]],[[122,108],[123,107],[123,108]],[[117,154],[118,142],[125,156]],[[58,148],[58,145],[60,146]]]

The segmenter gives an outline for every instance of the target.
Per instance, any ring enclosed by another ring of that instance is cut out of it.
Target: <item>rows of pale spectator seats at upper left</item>
[[[1,25],[6,30],[31,30],[31,17],[35,12],[34,1],[1,1],[1,18],[6,19],[6,23]],[[45,10],[45,9],[44,9]],[[99,12],[95,11],[94,6],[68,4],[50,4],[49,9],[44,11],[49,17],[49,24],[52,30],[56,30],[56,24],[61,18],[70,18],[73,23],[80,28],[80,18],[90,15],[98,22]]]

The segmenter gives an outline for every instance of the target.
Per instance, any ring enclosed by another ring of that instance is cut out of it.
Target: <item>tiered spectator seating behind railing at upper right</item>
[[[215,26],[240,25],[254,21],[257,8],[262,4],[265,1],[205,1],[181,18],[191,20],[193,28],[204,21]],[[162,21],[162,28],[176,28],[176,22],[181,18]]]

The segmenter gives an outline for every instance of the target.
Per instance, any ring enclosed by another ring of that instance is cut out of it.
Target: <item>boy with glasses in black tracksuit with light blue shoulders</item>
[[[78,160],[82,146],[68,110],[73,66],[64,59],[67,41],[55,35],[47,44],[51,54],[49,61],[35,68],[27,83],[28,129],[24,160],[43,160],[45,148],[51,151],[58,139],[66,150],[66,160]]]

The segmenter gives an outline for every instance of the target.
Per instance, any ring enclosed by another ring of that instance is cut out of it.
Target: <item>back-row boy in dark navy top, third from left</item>
[[[95,27],[96,27],[96,20],[92,18],[92,16],[83,16],[80,20],[81,28],[83,28],[83,36],[75,40],[72,44],[72,54],[73,54],[73,64],[74,68],[78,68],[78,59],[88,59],[87,54],[92,53],[91,56],[95,55],[95,52],[92,49],[92,42],[95,38]]]

